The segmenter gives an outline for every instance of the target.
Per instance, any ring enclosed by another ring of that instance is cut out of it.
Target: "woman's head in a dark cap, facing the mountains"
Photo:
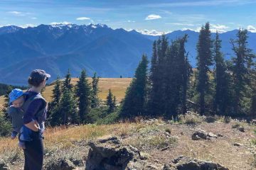
[[[46,86],[46,80],[50,77],[43,69],[34,69],[28,77],[28,84],[34,87]]]

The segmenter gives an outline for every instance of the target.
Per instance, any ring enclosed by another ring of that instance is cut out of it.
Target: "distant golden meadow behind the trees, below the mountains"
[[[92,82],[92,78],[88,78],[89,82]],[[78,78],[71,79],[71,84],[75,86],[77,83]],[[117,101],[120,102],[122,98],[125,96],[125,91],[127,87],[129,86],[130,82],[132,81],[132,78],[100,78],[99,80],[99,90],[100,93],[99,98],[102,99],[102,101],[105,101],[108,94],[108,89],[111,89],[112,94],[116,96]],[[43,92],[43,96],[46,98],[46,101],[52,100],[52,91],[53,86],[50,85],[46,87],[46,90]],[[0,96],[0,108],[3,107],[4,104],[4,96]]]

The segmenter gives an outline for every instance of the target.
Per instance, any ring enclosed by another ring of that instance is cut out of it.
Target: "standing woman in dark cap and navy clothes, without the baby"
[[[23,130],[31,140],[25,141],[25,170],[41,170],[43,167],[43,131],[46,120],[47,102],[41,96],[41,90],[50,77],[44,70],[35,69],[28,77],[31,89],[26,91],[26,103],[23,106]],[[26,130],[28,129],[28,130]],[[22,135],[22,132],[21,132]]]

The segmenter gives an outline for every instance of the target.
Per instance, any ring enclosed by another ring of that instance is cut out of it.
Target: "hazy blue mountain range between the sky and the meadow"
[[[232,30],[220,34],[226,58],[233,54],[230,38],[235,39],[237,32]],[[189,52],[189,60],[196,67],[199,33],[176,30],[166,36],[171,41],[185,33],[188,34],[186,50]],[[249,47],[256,52],[256,33],[248,35]],[[26,85],[31,70],[38,68],[49,72],[52,80],[58,76],[63,77],[68,69],[73,77],[78,77],[83,68],[89,76],[97,72],[100,77],[133,77],[142,54],[150,59],[152,43],[157,38],[159,36],[144,35],[136,30],[114,30],[102,24],[1,27],[0,82]]]

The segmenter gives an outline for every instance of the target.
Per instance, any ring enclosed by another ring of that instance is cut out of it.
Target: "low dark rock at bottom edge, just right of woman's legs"
[[[75,165],[68,159],[58,159],[57,161],[50,161],[46,164],[46,170],[72,170]]]

